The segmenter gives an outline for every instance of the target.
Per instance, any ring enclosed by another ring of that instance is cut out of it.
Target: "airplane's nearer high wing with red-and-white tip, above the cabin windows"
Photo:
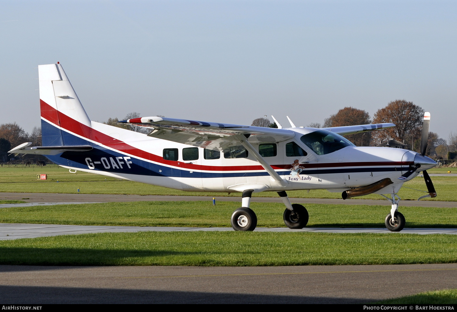
[[[197,147],[223,149],[233,145],[237,135],[249,137],[250,143],[281,142],[294,137],[287,129],[220,124],[215,122],[174,119],[165,117],[142,117],[119,121],[150,128],[148,136]]]

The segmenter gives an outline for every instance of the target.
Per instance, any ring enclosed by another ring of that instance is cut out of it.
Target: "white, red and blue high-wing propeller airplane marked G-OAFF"
[[[23,143],[15,154],[39,154],[70,172],[149,183],[188,192],[242,192],[241,208],[231,217],[237,231],[253,231],[257,216],[252,193],[277,192],[286,206],[290,229],[308,224],[308,211],[292,204],[287,191],[326,189],[343,199],[379,194],[391,203],[386,228],[401,231],[398,211],[403,183],[423,172],[428,195],[436,191],[426,170],[436,162],[425,156],[430,125],[426,112],[420,153],[390,147],[355,146],[342,135],[379,131],[391,123],[331,128],[278,128],[231,125],[158,116],[121,120],[148,134],[91,121],[62,65],[38,66],[42,146]],[[388,195],[388,196],[386,196]],[[419,198],[419,199],[421,199]],[[393,217],[392,217],[393,216]]]

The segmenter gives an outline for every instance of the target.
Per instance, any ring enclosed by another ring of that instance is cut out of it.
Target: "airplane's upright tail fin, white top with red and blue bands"
[[[90,138],[90,119],[62,65],[39,65],[38,77],[43,146],[75,145],[73,134]]]

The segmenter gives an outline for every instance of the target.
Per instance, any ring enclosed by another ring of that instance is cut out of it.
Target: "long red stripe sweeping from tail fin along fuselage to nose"
[[[182,161],[167,161],[161,156],[154,155],[147,151],[140,150],[134,146],[128,145],[125,142],[117,140],[100,131],[92,129],[79,121],[59,112],[52,106],[40,99],[41,116],[49,120],[55,125],[62,127],[65,130],[80,135],[88,140],[96,141],[104,146],[108,146],[114,150],[128,153],[133,156],[141,157],[150,161],[162,163],[164,165],[181,167],[186,169],[197,169],[205,171],[250,171],[264,170],[262,166],[202,166],[194,164],[185,164]],[[179,163],[179,165],[178,165]],[[321,163],[321,164],[302,164],[306,168],[325,168],[325,167],[348,167],[348,166],[408,166],[413,162],[410,161],[378,161],[378,162],[338,162],[338,163]],[[271,165],[273,169],[290,170],[292,165]]]

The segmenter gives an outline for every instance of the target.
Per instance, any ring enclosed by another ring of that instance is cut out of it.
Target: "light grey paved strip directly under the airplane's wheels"
[[[165,226],[98,226],[64,224],[20,224],[0,223],[0,240],[36,238],[68,234],[119,233],[119,232],[173,232],[173,231],[233,231],[232,228],[184,228]],[[385,228],[257,228],[256,232],[315,232],[315,233],[385,233],[395,234]],[[457,234],[457,229],[411,229],[405,228],[403,234]]]

